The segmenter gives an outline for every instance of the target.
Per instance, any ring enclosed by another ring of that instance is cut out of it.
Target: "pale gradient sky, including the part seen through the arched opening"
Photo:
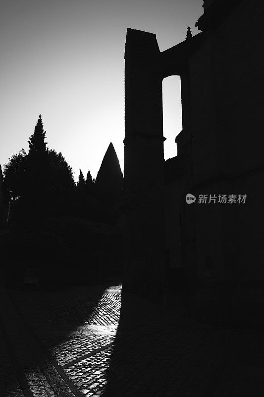
[[[202,0],[8,0],[0,13],[0,164],[34,132],[78,178],[95,178],[113,143],[123,170],[124,49],[128,27],[157,35],[160,51],[186,37]],[[181,131],[179,77],[163,81],[164,157]]]

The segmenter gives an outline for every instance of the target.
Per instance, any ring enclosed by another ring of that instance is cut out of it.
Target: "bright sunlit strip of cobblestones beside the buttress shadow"
[[[120,306],[120,286],[106,289],[85,324],[87,331],[83,327],[80,330],[83,336],[81,356],[78,358],[72,356],[71,360],[63,365],[69,379],[85,396],[104,394],[120,318]],[[88,346],[89,341],[92,341],[90,346]]]

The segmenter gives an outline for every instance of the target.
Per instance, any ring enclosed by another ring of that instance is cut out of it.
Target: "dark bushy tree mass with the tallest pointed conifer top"
[[[68,209],[75,187],[71,167],[61,153],[47,148],[45,138],[39,116],[28,140],[28,153],[21,149],[4,165],[8,191],[19,201],[17,213],[24,212],[27,217],[43,217]]]

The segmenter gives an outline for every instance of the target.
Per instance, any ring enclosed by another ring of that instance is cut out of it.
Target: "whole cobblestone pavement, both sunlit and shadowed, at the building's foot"
[[[260,333],[179,320],[120,285],[7,295],[6,396],[264,396]]]

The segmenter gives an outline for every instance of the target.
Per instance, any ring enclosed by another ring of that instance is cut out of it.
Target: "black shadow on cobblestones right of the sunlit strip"
[[[262,396],[261,373],[240,364],[244,331],[176,319],[129,294],[121,302],[104,397],[246,397],[254,385]]]

